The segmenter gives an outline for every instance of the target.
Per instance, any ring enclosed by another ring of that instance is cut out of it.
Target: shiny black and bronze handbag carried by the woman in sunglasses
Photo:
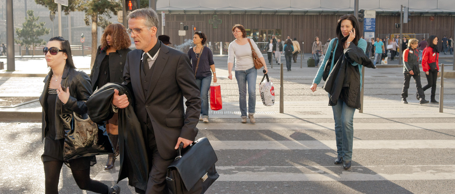
[[[86,116],[86,114],[85,114]],[[82,119],[76,112],[60,115],[65,129],[63,160],[114,153],[112,143],[103,126],[98,126],[90,117]]]

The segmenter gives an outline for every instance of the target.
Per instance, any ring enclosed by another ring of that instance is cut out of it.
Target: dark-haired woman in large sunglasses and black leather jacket
[[[69,112],[85,114],[85,101],[92,90],[90,78],[77,70],[71,56],[70,42],[61,36],[53,37],[43,49],[47,66],[51,68],[44,79],[40,96],[42,106],[42,139],[45,139],[44,164],[45,194],[58,194],[58,182],[63,163],[71,168],[77,186],[100,194],[119,194],[117,185],[108,187],[90,179],[90,166],[96,164],[95,156],[63,160],[64,128],[59,115]]]

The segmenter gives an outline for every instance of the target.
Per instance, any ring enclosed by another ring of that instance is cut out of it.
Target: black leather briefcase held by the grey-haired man
[[[203,194],[220,175],[215,169],[217,155],[207,138],[200,138],[182,149],[167,167],[166,183],[170,194]]]

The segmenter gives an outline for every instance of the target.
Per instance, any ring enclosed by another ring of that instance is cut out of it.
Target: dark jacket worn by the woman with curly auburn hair
[[[96,80],[100,75],[100,65],[101,61],[103,61],[106,56],[106,50],[106,47],[101,49],[101,46],[98,46],[98,51],[96,51],[95,64],[93,64],[90,73],[91,88],[93,92],[95,92],[96,89]],[[109,82],[123,82],[123,69],[125,67],[126,54],[128,54],[129,51],[131,51],[131,49],[126,48],[109,54],[109,77],[111,79]]]

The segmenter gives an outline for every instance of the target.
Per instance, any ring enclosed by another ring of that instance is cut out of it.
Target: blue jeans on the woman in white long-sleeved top
[[[238,101],[242,118],[247,117],[247,82],[248,82],[248,114],[254,114],[256,107],[256,77],[258,70],[251,68],[244,71],[235,71],[235,79],[238,84]]]

